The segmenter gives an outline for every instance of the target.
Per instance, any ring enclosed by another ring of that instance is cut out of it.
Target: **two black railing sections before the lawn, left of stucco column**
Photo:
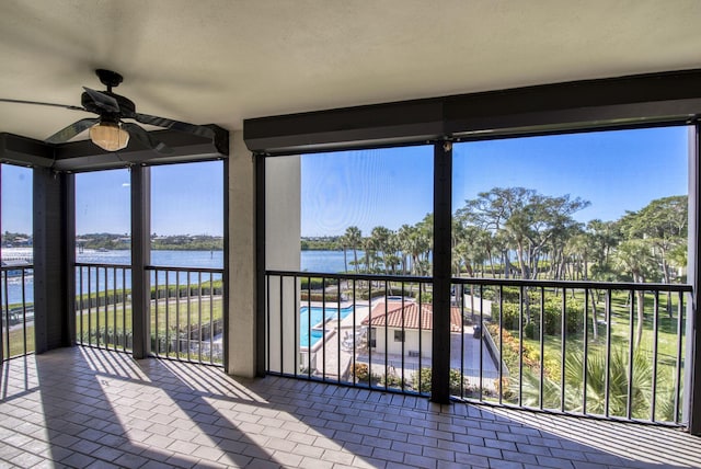
[[[148,266],[151,353],[222,364],[223,270]],[[133,347],[131,268],[76,264],[76,335],[82,345]]]

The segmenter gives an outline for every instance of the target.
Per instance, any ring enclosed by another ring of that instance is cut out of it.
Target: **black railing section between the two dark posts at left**
[[[76,342],[126,352],[133,341],[131,268],[76,263]]]

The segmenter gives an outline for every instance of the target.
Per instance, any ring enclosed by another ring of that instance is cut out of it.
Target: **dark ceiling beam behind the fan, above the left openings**
[[[168,145],[173,155],[161,155],[130,139],[127,148],[104,151],[90,140],[49,145],[12,134],[0,134],[0,161],[56,171],[84,172],[125,168],[129,164],[166,164],[209,161],[229,155],[229,131],[215,125],[215,138],[208,139],[176,130],[156,130],[150,134]]]

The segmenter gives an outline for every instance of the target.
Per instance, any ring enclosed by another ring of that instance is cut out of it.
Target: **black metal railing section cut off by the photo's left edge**
[[[0,320],[0,359],[33,353],[34,346],[34,266],[0,267],[2,311]]]

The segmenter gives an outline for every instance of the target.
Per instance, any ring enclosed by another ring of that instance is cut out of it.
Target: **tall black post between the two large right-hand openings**
[[[434,330],[430,400],[450,402],[450,240],[452,144],[434,145]]]

